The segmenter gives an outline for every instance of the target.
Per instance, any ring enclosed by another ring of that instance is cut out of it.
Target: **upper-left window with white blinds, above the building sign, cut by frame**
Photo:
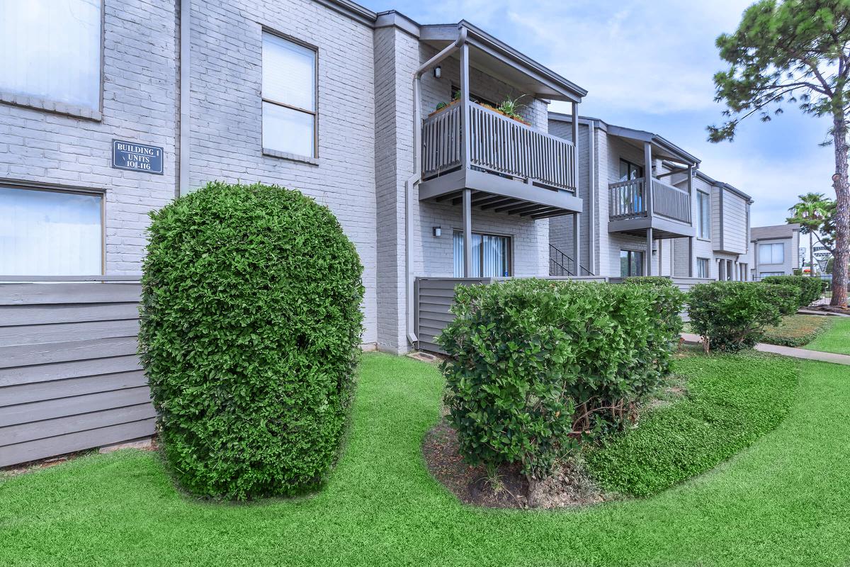
[[[100,3],[0,2],[0,91],[98,110]]]

